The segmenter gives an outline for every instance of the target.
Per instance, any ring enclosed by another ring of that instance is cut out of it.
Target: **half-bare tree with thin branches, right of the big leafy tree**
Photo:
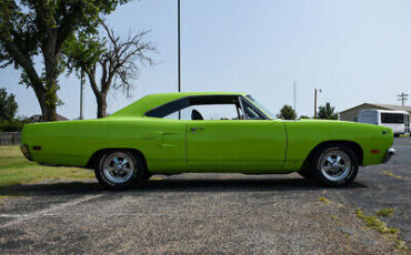
[[[154,51],[150,42],[144,41],[149,31],[129,34],[126,39],[117,37],[113,30],[101,22],[103,33],[100,37],[77,34],[64,52],[71,70],[87,74],[97,100],[97,118],[107,115],[107,94],[110,89],[121,89],[130,95],[132,81],[140,73],[141,65],[152,64],[148,57]],[[101,71],[100,84],[97,70]]]

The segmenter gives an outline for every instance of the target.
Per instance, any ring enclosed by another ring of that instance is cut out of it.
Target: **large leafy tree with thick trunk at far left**
[[[67,40],[79,31],[96,34],[100,16],[128,1],[0,0],[0,68],[21,70],[21,83],[34,90],[43,120],[54,121],[62,103],[57,91]],[[41,73],[36,57],[42,57]]]

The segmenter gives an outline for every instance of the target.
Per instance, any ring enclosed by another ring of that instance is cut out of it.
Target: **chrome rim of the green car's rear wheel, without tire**
[[[104,176],[116,184],[128,182],[136,171],[133,159],[123,152],[109,154],[104,159],[102,167]]]

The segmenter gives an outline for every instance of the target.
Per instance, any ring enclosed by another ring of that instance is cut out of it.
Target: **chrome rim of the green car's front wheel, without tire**
[[[320,161],[323,176],[332,182],[344,180],[351,171],[351,160],[347,153],[332,150],[323,154]]]

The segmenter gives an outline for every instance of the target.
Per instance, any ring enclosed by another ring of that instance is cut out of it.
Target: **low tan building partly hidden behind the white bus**
[[[411,106],[402,106],[394,104],[381,104],[381,103],[363,103],[354,108],[350,108],[345,111],[340,112],[341,121],[353,121],[358,122],[358,113],[365,109],[377,109],[377,110],[391,110],[391,111],[405,111],[411,114]]]

